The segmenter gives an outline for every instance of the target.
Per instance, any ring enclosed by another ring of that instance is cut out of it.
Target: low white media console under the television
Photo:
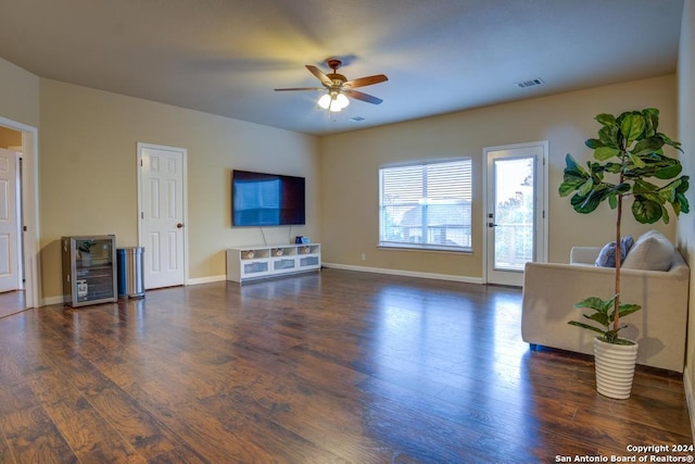
[[[227,250],[227,280],[238,283],[320,268],[319,243],[263,244]]]

